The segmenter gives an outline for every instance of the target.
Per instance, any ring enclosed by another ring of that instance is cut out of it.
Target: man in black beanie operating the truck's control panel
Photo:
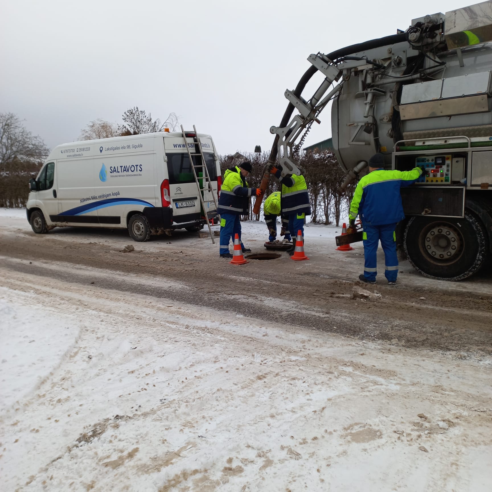
[[[349,223],[353,227],[359,215],[364,228],[364,273],[359,275],[359,280],[376,283],[376,252],[381,241],[385,259],[384,276],[389,285],[395,285],[398,276],[395,228],[397,222],[405,218],[400,187],[415,183],[422,169],[384,170],[383,165],[383,154],[374,154],[369,159],[369,173],[361,178],[355,188]]]

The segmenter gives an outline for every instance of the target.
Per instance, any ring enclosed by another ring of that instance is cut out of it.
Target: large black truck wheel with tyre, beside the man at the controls
[[[487,260],[484,229],[470,212],[464,218],[412,217],[403,245],[412,266],[430,278],[462,280]]]

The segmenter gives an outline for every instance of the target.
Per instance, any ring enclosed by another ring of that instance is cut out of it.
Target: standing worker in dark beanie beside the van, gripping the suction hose
[[[232,258],[229,253],[229,242],[239,234],[241,240],[241,215],[249,209],[249,197],[260,195],[260,188],[248,188],[246,176],[251,172],[251,164],[247,161],[231,169],[226,169],[220,190],[217,212],[220,214],[220,249],[221,258]],[[243,253],[251,251],[241,241]]]

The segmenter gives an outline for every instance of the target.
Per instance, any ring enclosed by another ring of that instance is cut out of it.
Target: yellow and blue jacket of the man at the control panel
[[[408,186],[420,177],[422,170],[385,171],[376,169],[363,176],[350,204],[349,218],[360,215],[362,223],[370,225],[393,224],[405,218],[401,204],[400,187]]]

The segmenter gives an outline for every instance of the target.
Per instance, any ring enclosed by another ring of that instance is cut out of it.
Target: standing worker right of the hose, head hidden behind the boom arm
[[[309,195],[307,194],[307,184],[304,176],[296,174],[281,177],[281,166],[271,164],[268,170],[275,175],[280,184],[281,190],[281,206],[282,216],[289,217],[288,230],[292,234],[292,246],[287,249],[290,256],[294,254],[296,249],[297,232],[301,231],[304,242],[304,221],[306,215],[311,215],[311,205],[309,204]]]

